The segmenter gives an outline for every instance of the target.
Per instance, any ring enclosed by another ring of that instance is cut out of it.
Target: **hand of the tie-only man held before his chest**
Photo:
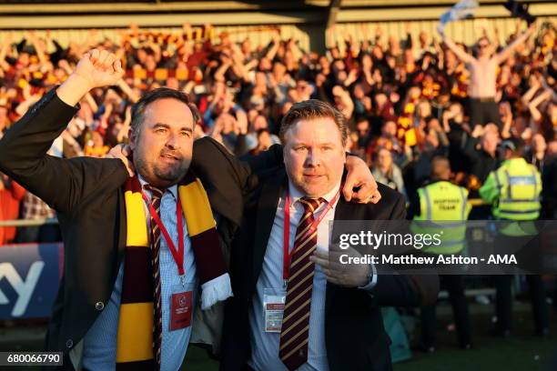
[[[370,283],[370,265],[367,264],[342,264],[340,256],[360,257],[361,254],[349,247],[343,251],[315,250],[309,260],[319,265],[331,284],[342,287],[361,287]]]

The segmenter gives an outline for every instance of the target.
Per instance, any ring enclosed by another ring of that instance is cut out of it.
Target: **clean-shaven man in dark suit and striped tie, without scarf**
[[[382,185],[378,205],[339,198],[348,129],[327,103],[293,105],[280,137],[284,166],[261,177],[233,244],[221,369],[390,370],[380,306],[434,303],[437,277],[343,275],[327,257],[329,223],[404,219],[404,198]]]

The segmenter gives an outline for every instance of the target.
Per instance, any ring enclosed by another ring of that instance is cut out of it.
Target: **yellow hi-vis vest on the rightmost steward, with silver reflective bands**
[[[534,165],[523,158],[512,158],[495,170],[494,177],[500,196],[493,216],[508,220],[535,220],[540,216],[542,180]]]

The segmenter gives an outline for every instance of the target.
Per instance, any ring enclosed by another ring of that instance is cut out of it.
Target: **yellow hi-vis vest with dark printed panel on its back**
[[[466,246],[466,220],[471,206],[468,190],[440,181],[418,189],[420,216],[414,217],[413,233],[439,234],[440,246],[424,247],[430,254],[458,254]]]

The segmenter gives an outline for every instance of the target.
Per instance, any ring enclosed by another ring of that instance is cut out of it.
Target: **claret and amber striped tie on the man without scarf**
[[[314,221],[313,212],[324,201],[322,198],[299,199],[304,206],[304,215],[296,230],[291,252],[289,286],[280,330],[279,356],[289,370],[295,370],[308,361],[309,309],[315,268],[309,256],[317,248],[317,230],[310,235],[308,231]]]

